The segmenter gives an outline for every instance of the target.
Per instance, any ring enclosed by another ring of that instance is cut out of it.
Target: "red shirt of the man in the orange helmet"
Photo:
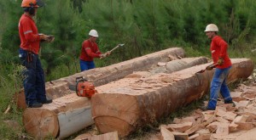
[[[19,22],[20,48],[38,54],[40,37],[38,28],[32,18],[22,14]]]

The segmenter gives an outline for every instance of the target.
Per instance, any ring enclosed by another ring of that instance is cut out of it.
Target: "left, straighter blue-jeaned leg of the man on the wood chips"
[[[215,109],[216,108],[218,92],[220,91],[223,81],[224,81],[223,70],[216,68],[214,75],[212,77],[212,82],[211,82],[211,87],[210,87],[210,101],[208,103],[207,109]]]

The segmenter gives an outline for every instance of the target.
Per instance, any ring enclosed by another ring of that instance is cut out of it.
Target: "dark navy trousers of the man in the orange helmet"
[[[44,70],[38,54],[28,53],[20,48],[19,58],[21,64],[26,67],[26,70],[22,71],[26,104],[44,102],[46,100]]]

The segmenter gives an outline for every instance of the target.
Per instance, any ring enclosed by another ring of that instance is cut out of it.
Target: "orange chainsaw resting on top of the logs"
[[[79,97],[91,98],[94,94],[97,93],[94,85],[81,77],[76,78],[76,92]]]

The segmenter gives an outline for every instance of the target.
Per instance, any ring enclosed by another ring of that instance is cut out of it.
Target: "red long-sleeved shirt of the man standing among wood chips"
[[[212,59],[213,64],[218,62],[218,58],[224,59],[224,64],[218,65],[218,69],[224,69],[230,67],[231,61],[229,55],[227,53],[228,44],[225,42],[220,36],[214,36],[211,42],[211,52],[212,52]]]

